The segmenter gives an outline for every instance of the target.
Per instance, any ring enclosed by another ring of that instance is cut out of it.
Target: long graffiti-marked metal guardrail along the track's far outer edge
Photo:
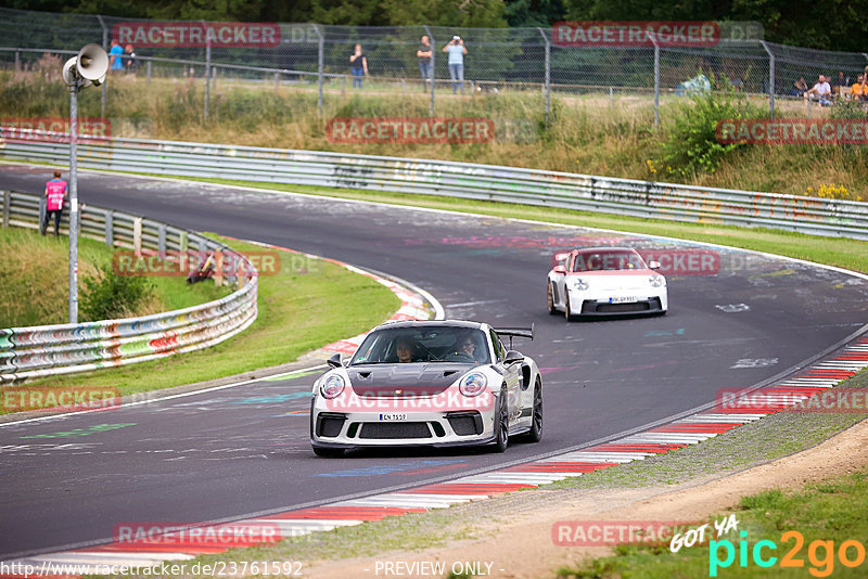
[[[0,155],[7,159],[68,162],[62,134],[0,131]],[[865,203],[539,169],[118,138],[82,140],[78,163],[93,169],[396,191],[868,239]]]

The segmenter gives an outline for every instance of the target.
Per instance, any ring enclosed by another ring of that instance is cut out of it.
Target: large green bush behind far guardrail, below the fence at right
[[[715,132],[718,121],[764,116],[763,110],[732,90],[693,94],[688,102],[676,105],[672,111],[673,120],[661,144],[656,165],[666,173],[680,177],[698,172],[713,173],[728,153],[749,146],[719,143]],[[648,165],[656,173],[652,163]]]

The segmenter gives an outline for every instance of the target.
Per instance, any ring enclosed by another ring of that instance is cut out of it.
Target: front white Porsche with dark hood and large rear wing
[[[509,337],[510,349],[501,337]],[[490,445],[542,436],[542,381],[511,349],[531,329],[463,321],[382,324],[314,383],[310,445],[320,456],[388,446]]]

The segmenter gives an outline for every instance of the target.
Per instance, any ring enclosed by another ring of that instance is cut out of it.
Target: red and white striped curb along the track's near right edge
[[[500,471],[316,507],[286,511],[229,525],[240,529],[243,529],[244,525],[273,525],[280,529],[282,538],[298,537],[337,527],[360,525],[367,520],[424,513],[506,492],[536,488],[556,480],[695,445],[742,424],[779,412],[791,406],[794,400],[805,399],[832,388],[865,368],[868,368],[868,337],[856,339],[792,377],[752,393],[764,395],[764,399],[769,400],[766,408],[715,409],[699,412],[643,433]],[[780,402],[775,401],[775,396],[779,396]],[[91,570],[98,570],[97,566],[100,565],[145,567],[166,561],[188,561],[199,555],[226,552],[229,546],[226,546],[226,538],[222,539],[186,544],[168,541],[144,544],[113,542],[95,548],[36,555],[12,563],[34,565],[36,568],[40,568],[47,562],[71,563],[90,565]]]

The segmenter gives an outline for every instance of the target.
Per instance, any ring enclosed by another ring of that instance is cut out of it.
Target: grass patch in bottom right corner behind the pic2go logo
[[[769,490],[743,497],[735,510],[740,532],[746,532],[743,538],[730,532],[706,545],[682,548],[677,553],[672,553],[668,544],[618,545],[613,556],[562,567],[558,577],[861,578],[866,569],[867,494],[868,469],[860,469],[796,492]],[[722,518],[723,515],[713,517]],[[760,541],[766,543],[757,552]],[[731,561],[727,546],[733,554]],[[845,565],[844,559],[851,565]]]

